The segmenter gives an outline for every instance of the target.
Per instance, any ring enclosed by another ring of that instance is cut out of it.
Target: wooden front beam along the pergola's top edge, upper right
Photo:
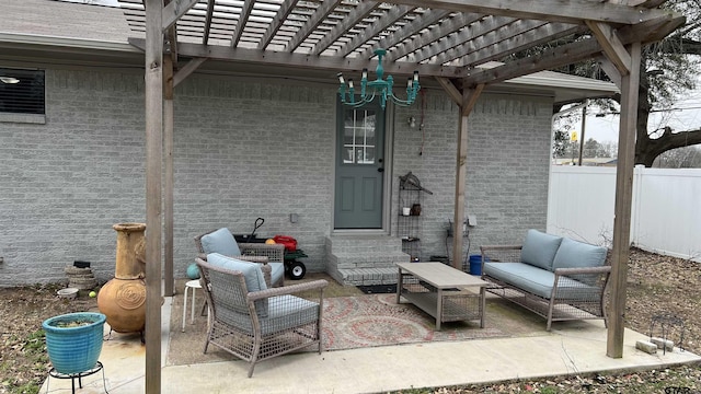
[[[584,24],[585,20],[636,24],[667,14],[664,10],[590,0],[392,0],[392,3],[577,24]]]

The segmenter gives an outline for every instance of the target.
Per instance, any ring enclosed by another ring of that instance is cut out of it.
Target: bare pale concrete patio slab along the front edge
[[[558,323],[551,333],[544,332],[543,322],[543,335],[537,336],[287,355],[258,363],[249,379],[243,361],[165,366],[172,302],[173,298],[165,298],[161,316],[162,393],[379,393],[701,361],[677,348],[666,355],[636,350],[635,341],[647,337],[630,329],[623,358],[612,359],[606,356],[602,322]],[[112,334],[100,357],[110,393],[146,392],[145,355],[138,334]],[[47,392],[47,383],[49,393],[71,392],[70,380],[49,378],[41,393]],[[82,378],[82,386],[77,393],[103,393],[102,373]]]

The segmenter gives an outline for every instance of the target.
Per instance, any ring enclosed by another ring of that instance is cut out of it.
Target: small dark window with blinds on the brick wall
[[[45,114],[44,70],[0,68],[0,113]]]

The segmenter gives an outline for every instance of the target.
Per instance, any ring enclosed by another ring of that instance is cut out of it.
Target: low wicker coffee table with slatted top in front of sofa
[[[480,321],[484,328],[484,290],[489,282],[443,263],[397,263],[397,303],[404,297],[440,323]]]

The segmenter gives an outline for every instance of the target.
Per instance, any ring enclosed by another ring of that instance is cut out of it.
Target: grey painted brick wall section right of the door
[[[446,229],[453,219],[459,114],[445,95],[424,99],[397,112],[393,183],[397,190],[399,175],[411,171],[434,193],[422,195],[422,259],[428,260],[452,253]],[[520,243],[529,228],[544,230],[551,114],[551,97],[480,97],[468,123],[466,213],[475,215],[478,225],[464,240],[466,256],[479,254],[484,244]],[[406,123],[410,116],[416,118],[415,128]]]

